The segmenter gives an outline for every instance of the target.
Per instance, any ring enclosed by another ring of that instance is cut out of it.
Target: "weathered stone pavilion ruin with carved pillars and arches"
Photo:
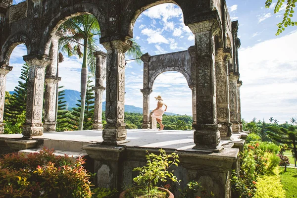
[[[57,84],[61,80],[57,72],[57,44],[61,35],[57,29],[73,16],[93,14],[101,29],[100,44],[107,50],[107,53],[95,52],[94,129],[102,129],[101,102],[105,89],[107,124],[102,132],[103,143],[84,149],[95,159],[95,171],[103,167],[112,172],[109,187],[119,188],[125,181],[124,176],[120,176],[121,171],[126,176],[129,172],[120,167],[130,167],[132,172],[131,167],[143,163],[135,161],[145,153],[128,151],[120,146],[127,137],[124,123],[125,52],[131,47],[129,39],[133,38],[137,17],[149,7],[167,2],[175,3],[182,9],[184,23],[195,35],[195,46],[186,51],[142,56],[143,129],[151,127],[148,104],[153,81],[165,71],[181,72],[193,93],[196,146],[190,154],[181,152],[183,163],[180,171],[189,180],[196,178],[210,182],[220,198],[230,198],[230,175],[237,161],[238,149],[224,151],[220,141],[221,138],[230,140],[232,133],[242,131],[242,82],[239,80],[238,22],[231,21],[226,0],[26,0],[16,5],[12,5],[12,0],[0,0],[0,132],[4,127],[6,74],[12,69],[9,58],[12,50],[22,43],[27,47],[28,55],[24,56],[24,60],[30,67],[23,136],[30,139],[42,135],[44,131],[55,130]],[[103,86],[105,65],[106,88]],[[211,156],[208,156],[209,153],[212,153]]]

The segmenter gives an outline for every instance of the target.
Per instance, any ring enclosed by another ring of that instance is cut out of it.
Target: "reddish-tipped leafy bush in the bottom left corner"
[[[12,153],[0,159],[0,197],[3,198],[91,198],[90,175],[68,156],[53,150]]]

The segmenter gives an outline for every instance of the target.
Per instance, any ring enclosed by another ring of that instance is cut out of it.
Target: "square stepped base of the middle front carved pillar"
[[[125,123],[115,124],[116,126],[105,125],[105,129],[102,131],[102,144],[116,145],[125,141],[127,137],[127,130],[125,129]],[[119,125],[119,126],[118,126]]]

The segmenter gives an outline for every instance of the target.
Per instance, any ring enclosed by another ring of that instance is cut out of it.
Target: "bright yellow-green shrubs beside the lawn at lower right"
[[[240,153],[240,172],[232,174],[235,197],[266,198],[264,195],[269,195],[267,198],[284,198],[277,171],[280,162],[277,150],[275,145],[262,142],[245,145],[244,151]]]

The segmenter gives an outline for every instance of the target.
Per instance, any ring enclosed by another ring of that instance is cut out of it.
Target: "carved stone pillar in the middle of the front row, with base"
[[[130,41],[102,43],[107,50],[106,63],[106,122],[102,132],[103,144],[118,144],[127,137],[125,112],[125,52]]]

